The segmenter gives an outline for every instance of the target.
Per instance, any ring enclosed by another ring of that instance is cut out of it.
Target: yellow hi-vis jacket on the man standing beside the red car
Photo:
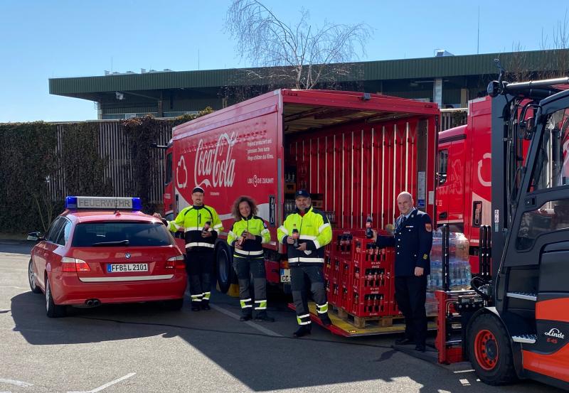
[[[203,225],[210,222],[210,237],[201,237]],[[176,220],[168,222],[168,229],[176,232],[184,229],[184,237],[186,239],[186,248],[198,247],[196,251],[213,250],[215,247],[218,233],[223,230],[221,220],[218,213],[211,206],[188,206],[179,212]]]

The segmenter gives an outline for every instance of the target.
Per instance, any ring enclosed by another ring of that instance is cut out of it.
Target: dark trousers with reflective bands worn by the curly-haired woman
[[[265,271],[265,259],[251,257],[236,257],[233,255],[233,268],[237,272],[239,281],[239,298],[241,313],[244,316],[252,315],[253,296],[251,294],[251,279],[253,276],[253,288],[255,291],[255,311],[267,310],[267,273]]]

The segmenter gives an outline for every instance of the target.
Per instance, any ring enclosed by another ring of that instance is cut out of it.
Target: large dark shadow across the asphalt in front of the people
[[[52,319],[45,315],[43,299],[31,292],[11,299],[14,330],[32,345],[179,336],[254,391],[405,378],[410,379],[409,391],[420,392],[457,392],[468,388],[470,392],[529,393],[543,389],[543,385],[534,382],[489,387],[476,382],[472,372],[449,378],[451,370],[395,351],[390,348],[390,340],[339,338],[317,325],[307,338],[290,338],[296,328],[294,313],[287,310],[282,300],[272,303],[271,312],[277,316],[277,322],[263,327],[285,337],[266,335],[216,311],[191,313],[187,304],[176,312],[162,310],[159,303],[71,308],[67,318]],[[212,301],[233,313],[239,312],[235,298],[213,294]],[[191,359],[180,362],[191,367]]]

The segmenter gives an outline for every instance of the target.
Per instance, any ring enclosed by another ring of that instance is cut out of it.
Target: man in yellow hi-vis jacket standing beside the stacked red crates
[[[299,329],[294,337],[310,334],[311,321],[308,308],[305,280],[310,282],[312,297],[322,323],[331,325],[328,316],[328,301],[324,289],[324,246],[332,239],[332,228],[328,217],[312,207],[307,190],[294,194],[297,211],[287,217],[277,230],[279,242],[287,244],[292,299],[297,311]]]

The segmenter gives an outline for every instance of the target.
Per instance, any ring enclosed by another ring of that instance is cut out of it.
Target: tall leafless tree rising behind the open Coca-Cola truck
[[[292,26],[257,0],[233,0],[226,29],[241,59],[259,67],[242,70],[245,77],[297,89],[349,79],[358,69],[349,62],[358,59],[358,50],[366,54],[372,31],[366,23],[312,26],[305,9]]]

